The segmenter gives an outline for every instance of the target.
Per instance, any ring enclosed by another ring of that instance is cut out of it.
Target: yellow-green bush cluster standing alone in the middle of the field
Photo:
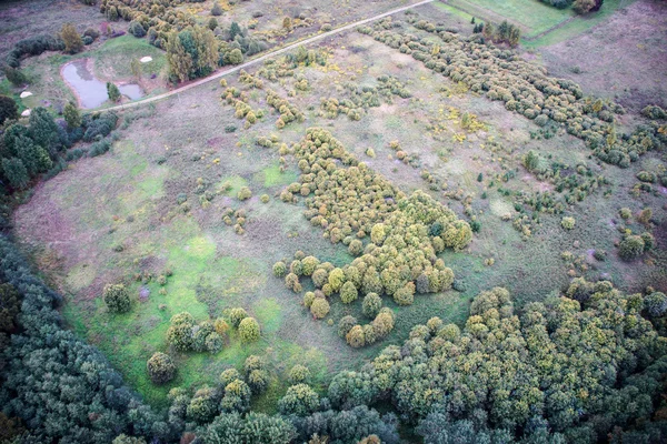
[[[323,296],[313,292],[305,299],[315,317],[328,313],[326,297],[335,293],[344,303],[375,293],[409,305],[415,293],[451,286],[454,273],[436,254],[447,248],[460,250],[470,242],[472,231],[466,222],[421,191],[406,196],[325,130],[309,129],[291,151],[301,170],[300,182],[290,184],[281,199],[305,198],[306,218],[332,243],[342,242],[358,255],[344,268],[301,252],[289,268],[285,262],[275,265],[273,273],[285,278],[286,286],[295,292],[302,290],[301,278],[312,280]],[[364,240],[370,242],[364,246]],[[374,342],[371,337],[369,333],[364,342]]]

